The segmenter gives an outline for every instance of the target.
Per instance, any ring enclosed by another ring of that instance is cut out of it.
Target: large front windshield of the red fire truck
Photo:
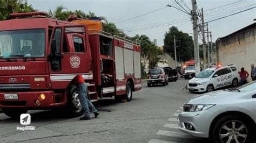
[[[44,29],[0,31],[0,49],[1,58],[44,57]]]

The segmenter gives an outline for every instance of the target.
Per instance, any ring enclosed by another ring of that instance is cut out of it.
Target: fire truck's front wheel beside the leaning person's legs
[[[69,103],[68,111],[71,116],[81,116],[83,114],[83,108],[80,104],[78,97],[78,90],[75,85],[71,85],[69,88]]]

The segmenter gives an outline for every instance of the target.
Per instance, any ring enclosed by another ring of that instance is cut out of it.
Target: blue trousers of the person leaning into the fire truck
[[[85,83],[79,84],[77,86],[77,89],[78,89],[79,100],[84,110],[84,116],[90,117],[90,112],[93,112],[93,113],[97,112],[97,109],[95,108],[95,106],[93,106],[93,104],[91,103],[91,101],[89,101],[87,97],[87,93],[88,93],[87,85]]]

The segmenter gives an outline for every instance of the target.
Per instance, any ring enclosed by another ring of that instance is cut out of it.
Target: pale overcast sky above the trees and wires
[[[63,5],[69,10],[95,12],[97,16],[104,16],[109,22],[116,23],[119,29],[130,36],[146,34],[152,41],[157,39],[159,46],[163,45],[164,34],[171,26],[177,26],[183,32],[193,32],[189,15],[174,8],[164,8],[167,4],[173,4],[174,0],[29,0],[28,2],[39,11],[48,11],[49,8],[54,10],[57,5]],[[192,8],[191,0],[183,0],[183,2],[188,8]],[[199,9],[204,8],[205,22],[256,6],[256,0],[198,0],[197,3]],[[185,5],[183,6],[186,8]],[[157,9],[161,10],[122,22]],[[256,18],[256,9],[209,23],[213,41],[254,23],[254,18]]]

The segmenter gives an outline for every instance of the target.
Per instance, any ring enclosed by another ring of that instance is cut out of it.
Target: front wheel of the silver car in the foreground
[[[253,124],[243,116],[228,115],[219,119],[213,127],[214,142],[252,142]]]

